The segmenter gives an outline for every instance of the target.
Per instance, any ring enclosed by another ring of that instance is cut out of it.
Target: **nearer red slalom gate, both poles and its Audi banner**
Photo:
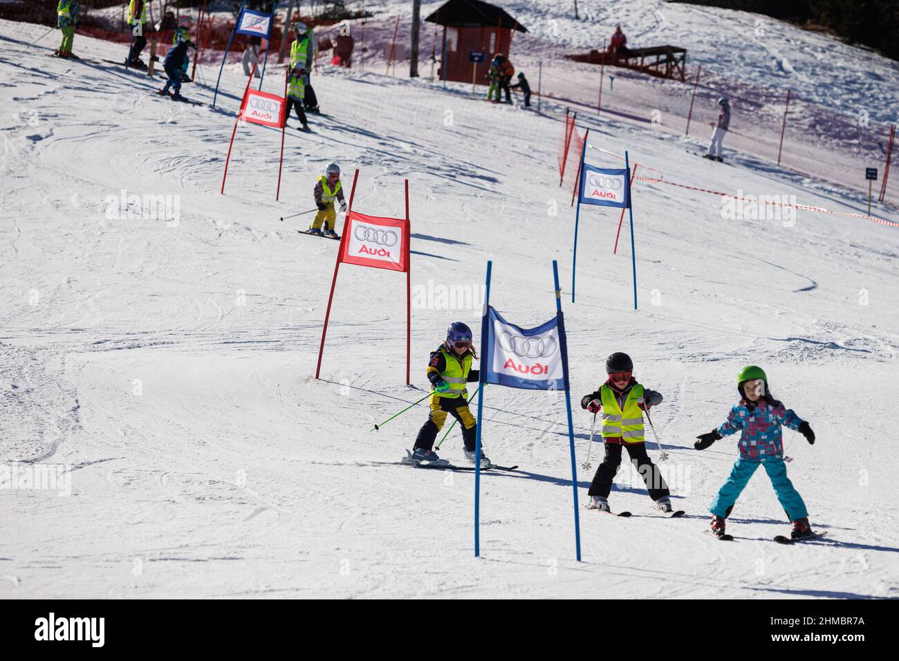
[[[405,192],[405,218],[380,218],[366,216],[352,210],[353,198],[356,196],[356,183],[359,183],[359,170],[352,177],[350,189],[350,206],[343,220],[343,234],[340,237],[340,248],[334,260],[334,279],[331,281],[331,293],[328,294],[328,306],[325,308],[325,323],[322,325],[322,342],[318,345],[318,363],[316,379],[322,371],[322,356],[325,354],[325,337],[328,333],[328,319],[331,318],[331,304],[334,302],[334,289],[337,286],[337,272],[341,264],[359,264],[376,269],[405,272],[405,384],[409,385],[409,369],[412,355],[412,270],[409,268],[409,239],[412,236],[412,223],[409,220],[409,180],[403,182]],[[368,279],[367,279],[368,280]],[[379,285],[373,285],[378,294],[384,293]]]

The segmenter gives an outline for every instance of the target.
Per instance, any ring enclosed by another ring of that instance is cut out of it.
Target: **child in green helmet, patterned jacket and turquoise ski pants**
[[[814,536],[808,523],[806,504],[796,487],[787,477],[784,462],[781,425],[785,425],[814,443],[814,432],[808,423],[775,399],[768,389],[768,377],[761,367],[750,365],[740,371],[737,390],[742,397],[731,409],[727,420],[709,433],[701,433],[694,443],[697,450],[705,450],[712,443],[740,431],[740,458],[734,463],[730,477],[718,490],[709,512],[712,513],[712,533],[718,537],[725,534],[725,519],[734,509],[736,499],[760,467],[771,480],[778,495],[780,505],[793,522],[794,540]]]

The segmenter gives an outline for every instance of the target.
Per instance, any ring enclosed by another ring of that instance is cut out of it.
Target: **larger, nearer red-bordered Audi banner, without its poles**
[[[403,272],[409,268],[407,219],[366,216],[351,210],[343,222],[343,237],[340,261],[344,264]]]

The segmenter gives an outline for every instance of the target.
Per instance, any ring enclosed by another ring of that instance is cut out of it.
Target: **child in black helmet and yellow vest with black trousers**
[[[643,478],[649,497],[655,506],[665,513],[672,512],[671,492],[655,466],[646,454],[643,430],[643,412],[651,406],[662,403],[662,394],[645,389],[633,377],[634,362],[627,353],[612,353],[606,360],[606,380],[600,389],[581,399],[581,407],[593,415],[602,414],[601,435],[605,446],[605,457],[596,469],[590,484],[592,509],[609,512],[609,494],[612,480],[621,465],[621,449],[628,451],[631,463]]]

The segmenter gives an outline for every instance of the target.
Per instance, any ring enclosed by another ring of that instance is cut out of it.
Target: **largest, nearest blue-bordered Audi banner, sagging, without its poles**
[[[564,390],[568,376],[565,323],[559,312],[536,328],[522,328],[487,306],[485,383],[510,388]]]

